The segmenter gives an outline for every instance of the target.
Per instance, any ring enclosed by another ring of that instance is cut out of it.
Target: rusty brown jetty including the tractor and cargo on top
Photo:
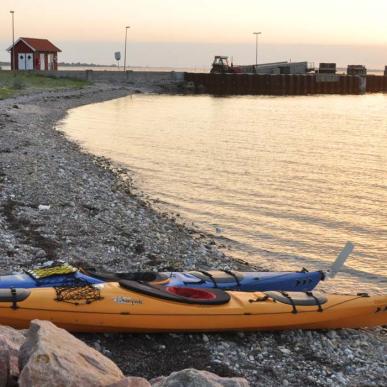
[[[346,74],[337,74],[336,63],[274,62],[256,65],[229,64],[217,55],[210,73],[184,74],[186,86],[196,93],[223,95],[313,95],[387,92],[384,75],[367,75],[363,65],[348,65]]]

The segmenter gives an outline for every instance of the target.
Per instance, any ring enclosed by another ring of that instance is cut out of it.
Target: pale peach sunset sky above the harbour
[[[47,38],[59,61],[131,66],[209,66],[307,60],[387,65],[387,0],[0,0],[0,61],[15,36]]]

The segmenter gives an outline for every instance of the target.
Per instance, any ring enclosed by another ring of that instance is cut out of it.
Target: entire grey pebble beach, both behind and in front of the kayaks
[[[0,101],[0,270],[64,259],[101,270],[246,269],[156,212],[131,172],[56,130],[68,109],[144,87],[95,84]],[[127,375],[194,367],[252,385],[383,385],[386,331],[77,335]],[[181,354],[184,354],[183,356]],[[285,382],[286,380],[286,382]]]

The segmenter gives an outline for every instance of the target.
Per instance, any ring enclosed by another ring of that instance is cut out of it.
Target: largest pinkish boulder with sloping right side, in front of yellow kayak
[[[97,387],[124,378],[110,359],[49,321],[31,322],[19,365],[20,387]]]

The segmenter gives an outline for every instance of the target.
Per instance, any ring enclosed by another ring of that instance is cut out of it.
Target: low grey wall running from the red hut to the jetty
[[[39,71],[37,74],[55,78],[82,79],[92,82],[121,83],[168,83],[182,82],[184,73],[177,71],[98,71],[98,70],[59,70]]]

